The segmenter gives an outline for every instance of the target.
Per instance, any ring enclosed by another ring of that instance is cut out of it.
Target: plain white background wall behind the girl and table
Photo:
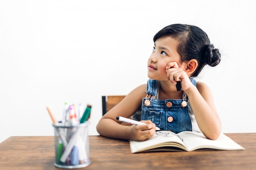
[[[198,81],[213,92],[223,133],[256,132],[254,0],[1,0],[0,142],[54,135],[65,102],[92,105],[98,135],[102,95],[146,83],[153,36],[175,23],[202,28],[222,54]]]

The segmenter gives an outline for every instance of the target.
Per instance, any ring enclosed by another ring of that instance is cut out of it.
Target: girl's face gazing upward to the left
[[[167,81],[166,66],[174,61],[179,68],[185,69],[177,52],[177,45],[177,41],[171,37],[163,37],[155,41],[153,52],[148,59],[148,78]]]

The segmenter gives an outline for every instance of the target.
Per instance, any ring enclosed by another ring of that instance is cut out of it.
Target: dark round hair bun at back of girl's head
[[[204,55],[205,63],[214,67],[220,63],[220,52],[217,48],[214,48],[213,44],[206,46]]]

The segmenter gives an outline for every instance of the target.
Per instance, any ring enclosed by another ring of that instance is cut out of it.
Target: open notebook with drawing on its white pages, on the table
[[[183,131],[173,133],[171,131],[157,131],[153,137],[146,141],[130,140],[132,153],[150,151],[193,151],[193,150],[245,150],[232,139],[220,134],[216,140],[207,139],[202,133]]]

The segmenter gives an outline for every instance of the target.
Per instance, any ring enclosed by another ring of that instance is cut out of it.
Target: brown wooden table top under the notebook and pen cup
[[[81,170],[256,169],[256,133],[226,133],[245,150],[131,153],[129,142],[89,136],[91,164]],[[12,136],[0,143],[1,170],[60,170],[53,136]]]

